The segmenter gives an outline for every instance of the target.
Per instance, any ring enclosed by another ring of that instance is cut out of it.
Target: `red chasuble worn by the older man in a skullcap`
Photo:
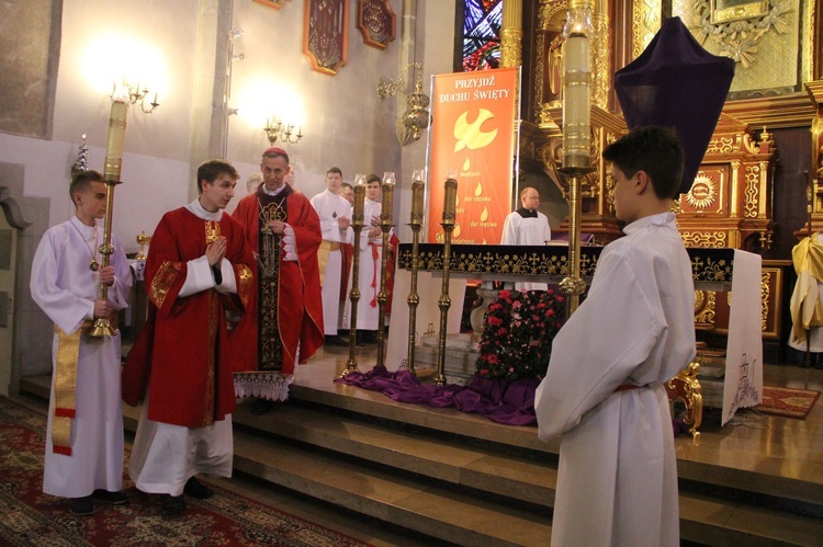
[[[279,371],[283,375],[294,374],[294,362],[300,346],[300,363],[305,363],[315,352],[323,346],[323,300],[320,297],[320,274],[317,265],[317,249],[323,240],[320,231],[320,219],[312,207],[306,196],[293,192],[291,187],[283,190],[285,197],[285,223],[294,230],[297,261],[283,260],[283,250],[279,248],[278,257],[278,281],[275,287],[277,307],[267,301],[260,301],[260,290],[252,295],[253,304],[249,309],[258,312],[249,312],[235,328],[237,338],[235,342],[244,347],[246,358],[235,368],[235,372],[264,372]],[[258,191],[258,194],[262,191]],[[260,237],[261,206],[258,194],[251,194],[237,205],[234,213],[235,218],[244,226],[246,241],[249,247],[258,253]],[[261,257],[261,260],[268,259]],[[253,264],[255,280],[263,283],[258,277],[259,263]],[[268,363],[259,354],[260,347],[268,343],[266,337],[258,340],[258,327],[261,314],[269,314],[267,323],[275,324],[272,333],[279,340],[274,341],[282,349],[281,363]],[[271,317],[277,314],[277,317]],[[250,353],[253,351],[253,355]],[[274,368],[272,368],[272,366]]]

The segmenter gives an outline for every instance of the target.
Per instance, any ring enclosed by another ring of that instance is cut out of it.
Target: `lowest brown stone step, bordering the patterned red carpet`
[[[234,465],[280,487],[455,545],[545,545],[551,536],[548,515],[245,431],[235,433]]]

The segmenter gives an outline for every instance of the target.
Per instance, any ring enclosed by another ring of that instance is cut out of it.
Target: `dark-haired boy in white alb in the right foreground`
[[[672,130],[639,127],[602,156],[625,237],[602,250],[534,400],[540,438],[562,435],[552,545],[676,546],[663,385],[695,356],[691,262],[669,212],[684,152]]]

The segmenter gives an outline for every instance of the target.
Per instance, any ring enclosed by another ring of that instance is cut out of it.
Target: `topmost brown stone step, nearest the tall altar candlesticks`
[[[416,428],[418,432],[431,432],[441,437],[451,435],[464,444],[492,447],[508,455],[526,455],[538,461],[556,460],[560,453],[560,438],[543,443],[533,426],[503,425],[454,409],[397,403],[385,396],[372,397],[350,386],[339,391],[324,391],[293,385],[291,394],[292,402],[297,404],[322,406],[360,415],[365,421],[377,420],[407,430]],[[791,419],[770,420],[783,421],[779,424],[783,429],[798,428],[802,423]],[[703,430],[720,430],[720,424],[706,423]],[[752,435],[756,433],[756,430],[752,431]],[[678,476],[681,482],[688,482],[685,487],[698,492],[722,490],[732,500],[788,503],[796,511],[823,516],[823,468],[815,470],[789,465],[790,460],[785,459],[780,451],[791,449],[791,446],[781,447],[779,440],[771,448],[775,454],[762,454],[757,444],[752,443],[741,445],[731,460],[719,455],[711,463],[701,459],[706,454],[719,452],[723,443],[722,436],[711,434],[703,434],[698,442],[687,436],[675,441]]]

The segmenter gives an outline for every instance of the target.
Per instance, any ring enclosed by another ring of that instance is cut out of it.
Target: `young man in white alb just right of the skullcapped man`
[[[342,171],[332,167],[326,171],[326,190],[312,197],[312,207],[320,217],[323,242],[317,252],[323,286],[323,326],[326,345],[348,346],[338,334],[340,326],[340,280],[342,277],[341,243],[353,240],[351,205],[340,195]]]

